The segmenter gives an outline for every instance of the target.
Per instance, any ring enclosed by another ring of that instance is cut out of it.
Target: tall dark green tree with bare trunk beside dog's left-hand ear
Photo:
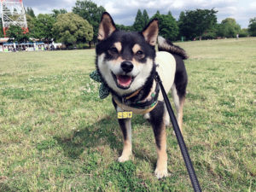
[[[102,6],[98,7],[96,3],[90,0],[77,0],[73,13],[81,16],[93,26],[93,42],[97,42],[98,27],[102,19],[102,14],[106,11]]]

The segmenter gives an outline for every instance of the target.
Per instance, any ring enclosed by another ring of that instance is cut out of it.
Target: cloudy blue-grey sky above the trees
[[[149,17],[157,10],[160,14],[168,11],[178,19],[181,11],[193,9],[218,10],[218,23],[225,18],[234,18],[241,28],[247,28],[249,20],[256,17],[256,0],[92,0],[98,6],[102,5],[117,24],[131,26],[137,15],[137,10],[146,9]],[[25,7],[31,7],[35,14],[51,13],[52,9],[67,9],[71,11],[76,0],[23,0]]]

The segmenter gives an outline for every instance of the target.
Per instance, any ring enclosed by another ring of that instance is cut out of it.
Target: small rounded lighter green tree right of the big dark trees
[[[233,18],[226,18],[218,26],[218,36],[225,38],[236,38],[236,34],[241,31],[241,26]]]

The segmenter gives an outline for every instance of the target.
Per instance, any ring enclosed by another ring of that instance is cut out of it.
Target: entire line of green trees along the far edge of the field
[[[35,38],[44,42],[55,40],[67,47],[85,48],[96,43],[98,25],[105,11],[106,9],[102,6],[90,0],[77,0],[70,13],[67,13],[66,9],[53,9],[51,14],[36,16],[32,8],[26,8],[29,32],[24,34],[20,27],[10,26],[7,36],[10,40],[15,39],[18,42]],[[240,37],[256,37],[256,17],[250,19],[247,29],[241,29],[241,26],[232,18],[226,18],[218,23],[217,13],[215,9],[186,10],[182,11],[176,20],[171,11],[166,15],[157,11],[149,18],[147,10],[138,9],[133,25],[117,24],[117,27],[125,31],[142,31],[149,20],[158,18],[160,35],[172,41],[235,38],[236,34]],[[2,20],[0,22],[2,26]],[[3,27],[0,29],[0,37],[3,37]]]

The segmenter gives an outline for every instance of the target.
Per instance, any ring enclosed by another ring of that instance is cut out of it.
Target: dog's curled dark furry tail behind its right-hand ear
[[[177,45],[172,44],[171,41],[161,36],[158,37],[158,49],[160,51],[167,51],[171,54],[180,55],[183,58],[183,60],[186,60],[189,58],[189,56],[186,54],[184,49],[180,48]]]

